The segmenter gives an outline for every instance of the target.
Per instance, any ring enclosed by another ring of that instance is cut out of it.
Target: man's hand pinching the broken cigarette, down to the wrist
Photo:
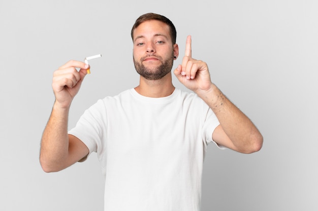
[[[80,68],[80,70],[77,71],[76,68]],[[88,68],[89,65],[84,62],[71,60],[54,71],[52,88],[55,95],[55,103],[62,107],[71,105],[87,74]]]

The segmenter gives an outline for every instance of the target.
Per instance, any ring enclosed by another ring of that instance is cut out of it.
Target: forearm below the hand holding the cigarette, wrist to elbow
[[[67,160],[69,107],[54,103],[51,116],[42,135],[40,162],[45,172],[58,171]]]

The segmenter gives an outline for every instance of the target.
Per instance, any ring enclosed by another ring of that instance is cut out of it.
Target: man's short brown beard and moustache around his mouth
[[[142,77],[146,78],[147,80],[158,80],[163,78],[165,75],[167,75],[173,66],[173,53],[171,54],[171,57],[162,60],[162,57],[155,56],[155,55],[148,55],[152,57],[156,57],[162,61],[162,64],[153,68],[147,68],[145,65],[142,63],[142,61],[146,58],[143,57],[140,59],[140,62],[136,61],[134,58],[134,65],[136,68],[136,71],[138,74],[140,74]]]

